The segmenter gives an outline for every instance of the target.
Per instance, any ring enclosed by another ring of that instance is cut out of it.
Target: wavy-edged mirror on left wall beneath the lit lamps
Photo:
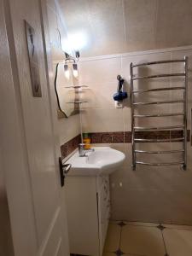
[[[58,103],[58,118],[79,113],[78,79],[73,74],[73,62],[59,62],[55,65],[55,94]]]

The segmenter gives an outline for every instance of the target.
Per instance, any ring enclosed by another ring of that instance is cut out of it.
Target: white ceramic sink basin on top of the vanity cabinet
[[[118,169],[125,160],[125,154],[110,148],[96,147],[95,151],[89,152],[84,157],[79,152],[73,154],[65,164],[71,164],[70,176],[97,176],[108,175]]]

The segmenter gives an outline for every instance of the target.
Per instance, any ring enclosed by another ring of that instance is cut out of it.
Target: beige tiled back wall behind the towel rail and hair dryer
[[[131,108],[129,99],[125,101],[124,108],[114,108],[113,93],[117,88],[116,77],[121,74],[126,80],[126,88],[130,86],[130,62],[158,61],[165,59],[183,58],[189,56],[189,92],[188,92],[188,129],[190,130],[190,108],[192,108],[192,47],[191,49],[168,49],[162,51],[137,52],[127,55],[106,55],[105,57],[87,58],[80,61],[80,84],[89,86],[82,91],[82,97],[89,101],[82,107],[82,127],[84,132],[119,132],[131,131]],[[156,69],[157,68],[157,69]],[[153,67],[142,70],[143,73],[177,72],[181,67]],[[162,80],[164,84],[177,84],[178,80]],[[157,83],[155,82],[158,86]],[[162,86],[162,84],[159,84]],[[138,84],[140,86],[140,84]],[[151,86],[151,84],[144,84]],[[163,85],[164,86],[164,85]],[[163,100],[181,97],[175,94],[150,94],[146,101]],[[139,99],[137,99],[139,100]],[[179,107],[181,110],[181,106]],[[161,112],[177,112],[179,109],[162,105]],[[142,108],[141,111],[144,111]],[[155,112],[154,108],[146,108],[145,112]],[[175,125],[178,119],[154,119],[150,124]],[[144,119],[139,125],[149,125]],[[115,133],[116,134],[116,133]],[[108,142],[112,143],[112,141]],[[179,148],[181,143],[148,143],[143,145],[146,149]],[[192,224],[192,151],[188,143],[188,169],[186,172],[177,166],[138,166],[137,171],[131,170],[131,143],[113,143],[113,148],[125,152],[124,165],[110,177],[112,218],[131,221],[163,222],[176,224]],[[144,160],[160,161],[157,157],[143,156]],[[161,159],[162,160],[162,159]],[[178,160],[178,155],[163,157],[165,161]]]

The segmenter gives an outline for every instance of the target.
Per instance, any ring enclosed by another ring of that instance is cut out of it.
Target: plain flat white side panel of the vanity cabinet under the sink
[[[68,176],[66,200],[70,253],[98,256],[96,177]]]

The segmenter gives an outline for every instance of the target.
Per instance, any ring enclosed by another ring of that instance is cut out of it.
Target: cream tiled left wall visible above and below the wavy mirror
[[[58,9],[58,6],[55,4],[54,0],[47,0],[47,12],[49,20],[50,48],[52,60],[54,61],[53,77],[55,77],[55,63],[58,61],[63,61],[63,58],[65,57],[61,51],[58,29],[61,32],[62,41],[65,41],[67,38],[67,31],[66,27],[63,26],[60,10]],[[70,49],[65,50],[70,52]],[[52,86],[54,86],[54,84],[52,84]],[[75,114],[69,118],[58,119],[58,131],[61,145],[67,143],[73,139],[73,137],[78,136],[80,133],[79,114]]]

